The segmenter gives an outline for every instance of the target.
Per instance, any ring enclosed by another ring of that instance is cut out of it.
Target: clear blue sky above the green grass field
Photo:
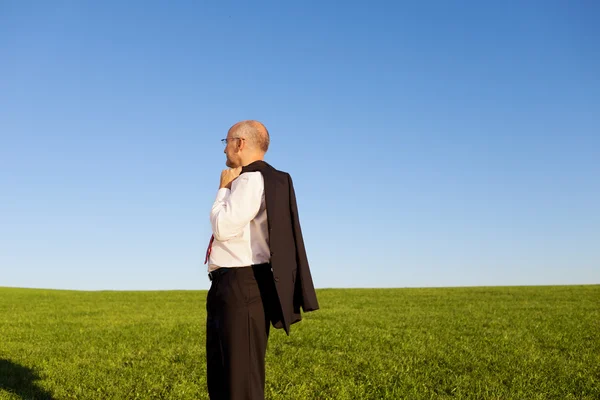
[[[243,119],[317,288],[600,283],[597,2],[207,3],[0,4],[0,286],[207,289]]]

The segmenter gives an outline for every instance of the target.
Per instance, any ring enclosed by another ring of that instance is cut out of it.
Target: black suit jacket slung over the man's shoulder
[[[255,161],[242,168],[245,172],[260,171],[265,182],[265,205],[269,227],[271,268],[281,313],[272,320],[275,328],[289,335],[290,325],[302,319],[304,312],[319,309],[312,281],[292,177],[276,170],[264,161]]]

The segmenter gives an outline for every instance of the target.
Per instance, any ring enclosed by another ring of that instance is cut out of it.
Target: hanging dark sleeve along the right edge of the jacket
[[[306,311],[314,311],[319,309],[317,294],[312,281],[310,267],[308,265],[308,257],[304,247],[304,239],[302,237],[302,229],[300,227],[300,217],[298,215],[298,205],[296,203],[296,192],[292,177],[288,174],[289,196],[290,196],[290,213],[292,216],[292,228],[294,232],[294,241],[296,243],[296,287],[301,291],[302,309]]]

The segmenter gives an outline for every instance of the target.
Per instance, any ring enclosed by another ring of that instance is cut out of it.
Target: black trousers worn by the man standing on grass
[[[228,268],[212,280],[206,299],[211,400],[264,399],[274,288],[269,264]]]

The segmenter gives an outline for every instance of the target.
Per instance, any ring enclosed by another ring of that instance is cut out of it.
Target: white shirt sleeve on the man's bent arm
[[[244,173],[231,184],[231,190],[219,189],[210,212],[216,240],[227,241],[239,235],[258,214],[264,191],[260,172]]]

